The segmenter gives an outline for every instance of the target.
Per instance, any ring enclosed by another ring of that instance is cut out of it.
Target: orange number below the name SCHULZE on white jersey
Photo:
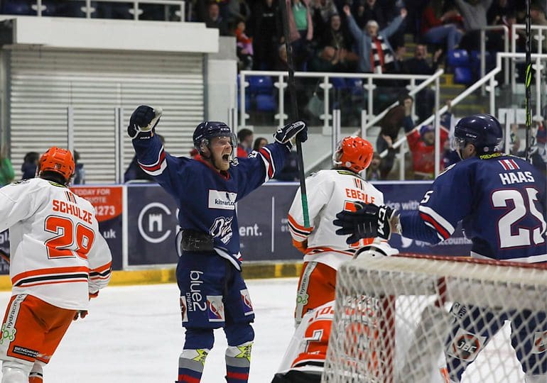
[[[70,218],[48,216],[45,218],[44,230],[56,234],[45,241],[48,258],[75,258],[87,259],[95,239],[91,228],[74,222]]]

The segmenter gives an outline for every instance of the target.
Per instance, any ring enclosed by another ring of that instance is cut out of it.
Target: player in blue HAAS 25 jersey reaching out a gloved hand
[[[455,126],[453,148],[461,162],[448,167],[426,192],[418,211],[365,205],[356,212],[341,211],[335,225],[347,243],[359,238],[406,238],[438,243],[462,221],[465,236],[472,241],[471,256],[485,260],[547,262],[546,177],[529,162],[500,150],[502,127],[493,116],[479,114],[462,118]],[[547,331],[543,312],[496,312],[474,306],[453,306],[453,329],[445,356],[451,381],[460,382],[465,368],[503,326],[511,320],[511,343],[526,382],[546,382],[547,353],[539,348],[538,334]],[[477,325],[486,318],[488,324]],[[459,353],[465,339],[477,340],[472,352]],[[541,343],[543,344],[543,343]]]

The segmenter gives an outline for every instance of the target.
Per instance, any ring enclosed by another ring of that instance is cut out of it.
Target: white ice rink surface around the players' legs
[[[250,279],[255,340],[250,383],[271,382],[293,335],[298,279]],[[0,293],[4,313],[11,293]],[[107,287],[91,302],[90,314],[72,323],[50,363],[45,383],[175,382],[183,346],[176,284]],[[215,331],[203,383],[221,383],[227,343]]]

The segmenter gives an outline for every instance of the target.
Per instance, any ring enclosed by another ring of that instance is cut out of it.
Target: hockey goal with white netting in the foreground
[[[545,267],[423,256],[346,262],[323,382],[524,382],[524,371],[547,369],[545,311]]]

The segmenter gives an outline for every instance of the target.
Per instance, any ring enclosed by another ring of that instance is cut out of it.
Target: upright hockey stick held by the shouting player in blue
[[[296,101],[296,86],[294,83],[293,47],[290,41],[288,30],[288,9],[286,0],[279,0],[281,9],[281,21],[283,22],[283,36],[285,37],[285,48],[287,50],[288,67],[288,94],[291,96],[291,119],[298,120],[298,101]],[[304,227],[310,227],[310,214],[308,213],[308,194],[305,191],[304,160],[302,157],[302,143],[296,137],[296,162],[298,163],[298,179],[300,180],[300,198],[302,199],[302,211],[304,214]]]

